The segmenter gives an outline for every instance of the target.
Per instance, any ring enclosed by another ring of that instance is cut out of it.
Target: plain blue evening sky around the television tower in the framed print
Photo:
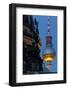
[[[33,16],[33,18],[36,18],[38,21],[38,29],[39,29],[39,36],[41,39],[41,53],[42,56],[44,49],[46,48],[46,40],[45,37],[47,35],[48,31],[48,16]],[[53,48],[56,53],[55,60],[52,62],[51,71],[57,72],[57,17],[56,16],[50,16],[50,25],[51,25],[51,36],[52,36],[52,43]]]

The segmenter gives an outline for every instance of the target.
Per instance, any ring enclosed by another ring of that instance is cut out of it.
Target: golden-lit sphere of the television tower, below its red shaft
[[[52,47],[47,47],[43,52],[43,60],[46,62],[52,62],[55,59],[55,52]]]

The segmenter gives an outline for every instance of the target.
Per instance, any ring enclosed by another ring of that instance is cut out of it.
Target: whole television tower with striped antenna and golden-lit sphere
[[[50,17],[48,16],[48,32],[46,36],[46,48],[43,52],[43,60],[47,63],[48,70],[50,71],[53,60],[55,59],[55,51],[52,44]]]

